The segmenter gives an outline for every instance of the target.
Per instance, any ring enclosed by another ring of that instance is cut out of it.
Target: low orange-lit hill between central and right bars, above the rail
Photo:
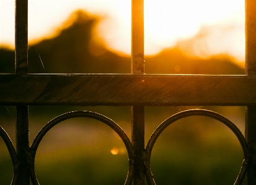
[[[189,58],[178,48],[166,49],[153,58],[146,58],[146,73],[244,75],[229,56],[209,59]]]

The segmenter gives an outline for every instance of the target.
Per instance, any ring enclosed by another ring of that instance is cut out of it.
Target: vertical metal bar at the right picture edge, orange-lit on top
[[[245,74],[256,75],[256,2],[245,1]],[[255,87],[256,88],[256,87]],[[256,106],[247,106],[245,112],[245,137],[249,144],[250,163],[247,185],[256,184]]]

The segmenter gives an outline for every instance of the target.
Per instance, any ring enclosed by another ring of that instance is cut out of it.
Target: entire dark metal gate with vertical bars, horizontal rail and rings
[[[155,184],[150,169],[152,147],[157,137],[174,121],[187,116],[217,119],[236,134],[244,151],[244,161],[235,184],[256,184],[256,3],[246,4],[245,75],[147,75],[144,74],[144,5],[132,0],[131,74],[27,74],[27,0],[15,1],[15,74],[0,74],[0,105],[16,106],[16,149],[0,127],[0,136],[11,155],[14,176],[11,184],[38,184],[35,155],[43,136],[51,127],[69,118],[97,119],[112,127],[123,140],[129,157],[125,184]],[[179,83],[177,83],[179,82]],[[180,85],[185,84],[185,85]],[[132,140],[111,119],[88,111],[63,114],[46,124],[29,147],[30,105],[132,106]],[[144,147],[144,106],[221,105],[246,106],[245,137],[218,113],[188,110],[166,119]],[[238,172],[237,172],[238,173]],[[235,181],[235,179],[234,179]]]

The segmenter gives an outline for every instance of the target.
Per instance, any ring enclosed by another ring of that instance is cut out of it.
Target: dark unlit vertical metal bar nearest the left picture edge
[[[15,74],[28,69],[28,0],[15,0]],[[16,106],[16,150],[19,185],[29,185],[29,107]]]

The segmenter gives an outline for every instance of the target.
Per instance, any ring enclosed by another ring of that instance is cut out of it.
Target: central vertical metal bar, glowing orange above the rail
[[[131,73],[144,74],[144,1],[131,1]],[[132,107],[131,140],[135,150],[133,185],[144,184],[144,106]]]

